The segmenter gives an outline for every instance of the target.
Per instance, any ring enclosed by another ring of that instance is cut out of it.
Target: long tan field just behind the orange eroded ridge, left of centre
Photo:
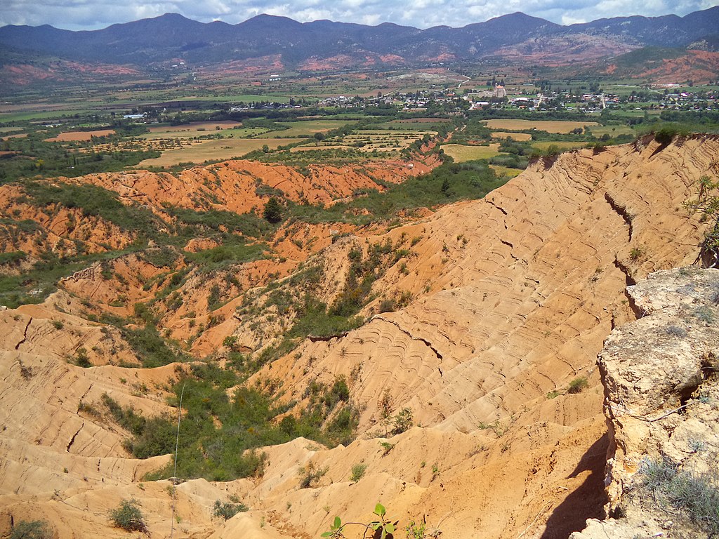
[[[261,149],[267,144],[275,149],[284,144],[301,142],[303,139],[212,139],[192,144],[181,149],[170,149],[160,157],[146,159],[137,165],[144,167],[173,167],[183,162],[203,163],[209,160],[226,160],[242,157],[249,152]]]

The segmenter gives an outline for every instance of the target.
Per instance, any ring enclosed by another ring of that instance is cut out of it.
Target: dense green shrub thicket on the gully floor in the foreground
[[[175,405],[182,396],[178,476],[204,477],[229,481],[262,474],[265,455],[256,448],[285,443],[305,436],[330,446],[350,441],[357,427],[357,410],[349,402],[344,379],[331,387],[314,384],[308,390],[308,406],[299,418],[285,415],[288,405],[280,405],[259,387],[237,387],[241,374],[216,365],[192,367],[191,374],[173,387]],[[109,397],[105,404],[117,422],[132,433],[126,443],[138,458],[171,453],[175,447],[177,418],[141,418],[123,409]],[[118,410],[119,409],[119,410]],[[328,421],[329,416],[333,419]],[[152,474],[149,479],[168,478],[174,464]]]

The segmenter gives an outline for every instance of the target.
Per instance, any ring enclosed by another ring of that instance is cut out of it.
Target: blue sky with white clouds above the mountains
[[[201,22],[237,24],[255,15],[282,15],[300,22],[330,19],[359,24],[394,22],[429,28],[463,27],[523,11],[558,24],[603,17],[684,16],[719,0],[0,0],[0,26],[50,24],[70,30],[99,29],[165,13]]]

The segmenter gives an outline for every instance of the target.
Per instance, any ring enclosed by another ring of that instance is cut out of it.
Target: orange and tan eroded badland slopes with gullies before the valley
[[[169,208],[246,213],[273,194],[331,208],[436,165],[417,154],[411,167],[313,165],[301,173],[234,160],[178,175],[66,181],[114,191],[122,207],[142,206],[142,215],[174,226],[183,214]],[[605,489],[608,451],[629,451],[621,429],[608,427],[597,355],[614,328],[643,313],[628,285],[697,261],[710,223],[684,203],[702,176],[716,175],[716,137],[644,137],[540,158],[483,199],[408,212],[391,226],[290,221],[263,233],[262,243],[239,225],[219,225],[246,237],[243,249],[272,252],[244,263],[191,264],[207,262],[203,252],[227,261],[208,236],[79,270],[43,303],[0,311],[0,533],[42,518],[60,538],[127,537],[109,514],[136,499],[152,537],[316,538],[335,515],[369,522],[381,502],[399,520],[395,537],[414,522],[425,537],[566,538],[605,516],[607,492],[617,490]],[[0,187],[3,216],[35,223],[6,226],[15,241],[6,251],[40,257],[71,252],[79,240],[88,252],[109,252],[137,241],[132,227],[101,213],[39,208],[24,189]],[[349,314],[323,331],[303,329],[308,313]],[[138,352],[150,318],[179,362],[152,367]],[[209,373],[202,369],[235,373],[213,382],[224,404],[200,395],[200,374]],[[196,433],[201,456],[191,468],[189,453],[178,453],[173,487],[166,478],[175,434],[168,451],[133,458],[137,443],[127,441],[147,438],[147,428],[132,430],[124,419],[132,408],[145,420],[166,417],[158,429],[176,425],[181,380],[189,380],[185,402],[206,402],[183,404],[180,437]],[[230,423],[254,398],[242,388],[276,399],[281,410],[268,421],[281,436]],[[312,415],[316,430],[305,428]],[[266,436],[253,446],[265,460],[244,479],[223,480],[240,475],[222,461],[232,438],[248,436]],[[715,438],[705,443],[715,459]],[[213,516],[216,500],[249,510],[224,520]]]

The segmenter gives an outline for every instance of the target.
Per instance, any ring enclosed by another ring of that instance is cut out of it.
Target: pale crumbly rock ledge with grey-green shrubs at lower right
[[[608,515],[572,539],[719,533],[719,270],[654,272],[605,341]]]

